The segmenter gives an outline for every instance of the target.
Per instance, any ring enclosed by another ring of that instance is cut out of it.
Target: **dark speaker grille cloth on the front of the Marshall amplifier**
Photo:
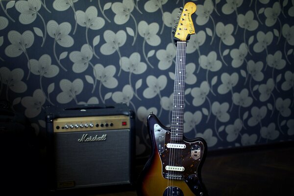
[[[78,142],[83,134],[107,137]],[[55,133],[54,141],[57,183],[74,181],[75,187],[129,183],[129,129]]]

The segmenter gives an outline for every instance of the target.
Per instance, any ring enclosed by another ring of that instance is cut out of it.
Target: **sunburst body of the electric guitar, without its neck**
[[[148,116],[147,127],[152,152],[138,180],[138,196],[208,196],[200,173],[207,148],[205,141],[184,138],[184,149],[171,148],[167,147],[171,144],[169,127],[153,114]],[[169,165],[184,171],[167,170]]]

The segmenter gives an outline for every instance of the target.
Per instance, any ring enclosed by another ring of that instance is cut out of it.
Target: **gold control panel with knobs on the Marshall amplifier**
[[[129,123],[129,117],[123,115],[57,118],[53,120],[53,132],[127,129]]]

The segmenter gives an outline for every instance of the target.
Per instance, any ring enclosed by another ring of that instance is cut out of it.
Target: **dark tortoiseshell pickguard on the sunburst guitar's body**
[[[194,193],[202,195],[197,171],[204,153],[205,145],[203,142],[183,140],[182,144],[173,145],[169,130],[165,130],[157,123],[154,124],[153,128],[155,143],[162,164],[162,176],[165,179],[185,181]],[[175,169],[172,170],[171,168]]]

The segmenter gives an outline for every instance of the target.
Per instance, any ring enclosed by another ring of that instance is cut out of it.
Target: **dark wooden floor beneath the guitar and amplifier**
[[[210,196],[294,196],[294,143],[209,152],[202,179]]]

